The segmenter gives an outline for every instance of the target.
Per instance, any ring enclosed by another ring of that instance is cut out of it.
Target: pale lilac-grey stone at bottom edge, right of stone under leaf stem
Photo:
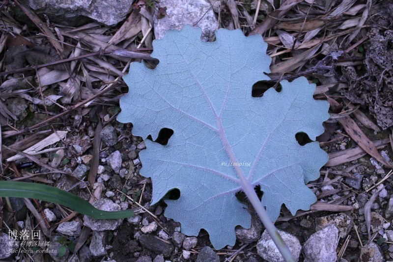
[[[337,261],[338,229],[330,225],[313,233],[303,245],[305,262]]]

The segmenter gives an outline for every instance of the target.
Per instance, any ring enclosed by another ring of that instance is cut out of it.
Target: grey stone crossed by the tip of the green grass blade
[[[110,199],[100,199],[96,203],[93,204],[95,208],[105,211],[118,211],[121,210],[120,205],[114,204]],[[115,230],[118,226],[120,226],[123,221],[120,219],[94,219],[87,215],[84,215],[84,226],[91,228],[92,230]]]

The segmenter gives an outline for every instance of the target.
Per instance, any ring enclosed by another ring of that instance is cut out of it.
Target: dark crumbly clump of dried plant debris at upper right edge
[[[393,125],[393,3],[376,5],[371,16],[364,71],[346,67],[342,72],[349,83],[345,96],[353,103],[367,106],[385,130]]]

